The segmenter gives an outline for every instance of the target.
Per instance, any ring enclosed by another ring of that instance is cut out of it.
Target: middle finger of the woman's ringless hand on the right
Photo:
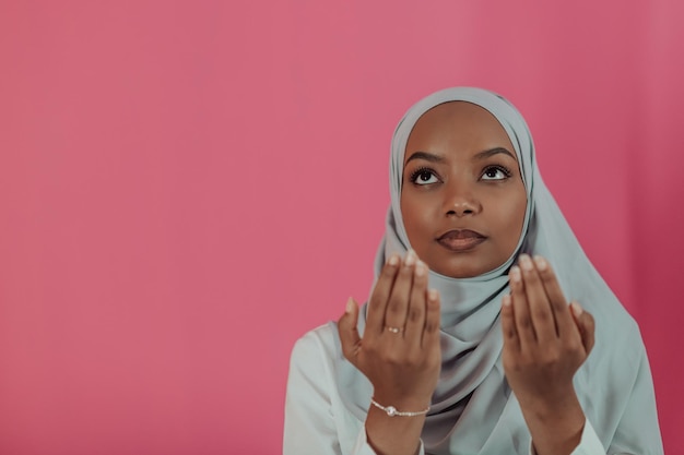
[[[554,319],[544,285],[536,272],[534,263],[527,254],[520,255],[520,271],[524,282],[524,294],[530,308],[530,319],[534,327],[536,340],[546,344],[557,337]]]

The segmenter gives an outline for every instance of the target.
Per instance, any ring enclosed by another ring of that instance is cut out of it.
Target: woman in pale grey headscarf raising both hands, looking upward
[[[462,87],[418,101],[390,190],[367,306],[293,350],[285,455],[662,454],[638,327],[515,107]]]

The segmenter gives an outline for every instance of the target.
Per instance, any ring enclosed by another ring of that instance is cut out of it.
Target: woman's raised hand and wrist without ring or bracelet
[[[522,254],[519,264],[502,306],[506,379],[538,454],[569,454],[585,424],[573,376],[593,347],[593,318],[568,307],[546,260]]]

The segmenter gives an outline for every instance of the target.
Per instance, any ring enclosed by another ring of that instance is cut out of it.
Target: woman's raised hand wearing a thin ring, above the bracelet
[[[400,411],[429,403],[439,378],[439,296],[427,290],[427,266],[409,251],[392,255],[370,296],[364,337],[353,299],[338,323],[344,357],[368,378],[375,399]]]

